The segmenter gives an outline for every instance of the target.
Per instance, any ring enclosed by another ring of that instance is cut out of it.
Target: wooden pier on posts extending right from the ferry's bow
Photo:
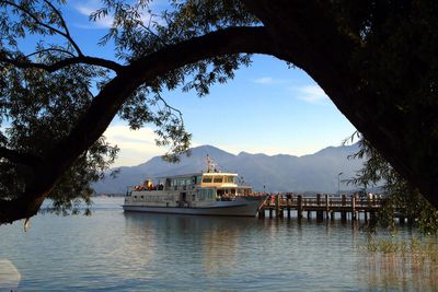
[[[377,212],[382,207],[380,198],[357,198],[355,196],[342,195],[341,197],[330,197],[328,195],[316,195],[316,197],[280,196],[273,195],[266,199],[258,210],[258,218],[265,218],[268,211],[269,218],[291,218],[291,212],[296,211],[298,219],[304,214],[308,219],[314,213],[316,221],[334,220],[335,213],[341,214],[342,221],[357,220],[359,214],[364,214],[365,220],[376,219]]]

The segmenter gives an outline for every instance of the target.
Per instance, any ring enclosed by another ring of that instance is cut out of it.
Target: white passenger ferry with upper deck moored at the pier
[[[208,159],[208,157],[207,157]],[[238,185],[237,173],[221,173],[208,161],[206,172],[160,177],[157,185],[147,179],[128,187],[124,211],[196,215],[255,217],[265,201],[264,194],[253,194]]]

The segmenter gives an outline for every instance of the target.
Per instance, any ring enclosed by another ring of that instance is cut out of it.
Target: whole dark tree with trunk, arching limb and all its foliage
[[[207,94],[249,63],[242,54],[272,55],[308,72],[438,206],[436,1],[171,1],[162,21],[145,23],[138,11],[149,1],[105,0],[91,19],[114,14],[102,43],[114,42],[119,62],[85,56],[62,19],[64,1],[54,2],[0,0],[1,113],[2,121],[12,120],[1,135],[0,222],[32,217],[50,194],[69,201],[78,178],[85,189],[107,166],[103,156],[114,154],[100,139],[117,114],[132,128],[154,124],[170,157],[184,152],[189,136],[161,91],[183,85]],[[26,55],[18,40],[30,34],[66,44],[38,43]],[[164,109],[154,110],[158,103]],[[54,114],[62,108],[69,118]],[[23,110],[36,114],[28,120]]]

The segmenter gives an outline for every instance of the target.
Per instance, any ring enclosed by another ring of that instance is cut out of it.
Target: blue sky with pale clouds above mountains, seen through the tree
[[[155,1],[152,9],[162,9]],[[99,0],[72,1],[65,10],[77,43],[91,56],[111,58],[111,47],[99,47],[111,19],[90,23],[88,15]],[[302,70],[269,56],[254,56],[253,65],[241,68],[227,84],[214,85],[210,94],[164,94],[168,103],[183,113],[192,144],[211,144],[231,153],[304,155],[328,145],[339,145],[355,128],[337,110],[318,84]],[[105,132],[120,148],[115,166],[137,165],[166,149],[154,145],[151,128],[138,131],[115,119]]]

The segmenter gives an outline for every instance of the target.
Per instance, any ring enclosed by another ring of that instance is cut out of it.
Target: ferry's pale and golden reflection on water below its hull
[[[200,264],[207,277],[227,276],[238,268],[237,254],[242,236],[257,227],[253,218],[215,218],[177,214],[125,213],[126,231],[132,254],[153,249],[165,260],[192,255],[189,264]],[[159,245],[157,245],[159,242]],[[153,255],[151,255],[153,256]],[[143,262],[146,264],[146,262]]]

